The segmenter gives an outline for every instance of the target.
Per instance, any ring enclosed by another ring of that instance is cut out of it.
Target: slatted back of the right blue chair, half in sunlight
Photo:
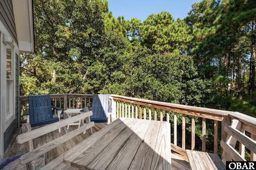
[[[91,119],[108,118],[108,100],[109,95],[93,95],[92,97],[92,112]]]

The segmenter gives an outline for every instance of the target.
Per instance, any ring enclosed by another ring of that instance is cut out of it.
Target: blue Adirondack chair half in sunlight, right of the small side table
[[[91,121],[95,123],[110,123],[110,113],[112,107],[108,105],[109,95],[93,95],[92,106],[88,109],[92,110]],[[81,110],[82,112],[84,109]]]

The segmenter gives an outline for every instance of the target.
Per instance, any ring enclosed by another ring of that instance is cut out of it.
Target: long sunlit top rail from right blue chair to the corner
[[[110,95],[110,97],[113,97],[118,100],[122,100],[122,99],[130,100],[131,103],[132,103],[132,101],[138,101],[141,103],[166,106],[166,107],[170,107],[173,109],[180,109],[180,110],[192,111],[192,112],[204,113],[204,114],[210,113],[210,114],[215,114],[215,115],[228,116],[230,113],[232,113],[231,111],[222,111],[222,110],[218,110],[218,109],[209,109],[209,108],[204,108],[204,107],[195,107],[195,106],[180,105],[180,104],[174,104],[174,103],[166,103],[166,102],[161,102],[161,101],[138,99],[138,98],[134,98],[134,97],[126,97],[126,96],[120,96],[120,95]]]

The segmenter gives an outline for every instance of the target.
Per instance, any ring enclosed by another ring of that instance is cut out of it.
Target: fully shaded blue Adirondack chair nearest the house
[[[31,127],[47,125],[60,121],[60,113],[63,109],[54,107],[51,104],[50,95],[28,96],[29,103],[29,123]],[[52,108],[58,111],[58,117],[52,115]],[[60,131],[60,129],[59,129]]]

